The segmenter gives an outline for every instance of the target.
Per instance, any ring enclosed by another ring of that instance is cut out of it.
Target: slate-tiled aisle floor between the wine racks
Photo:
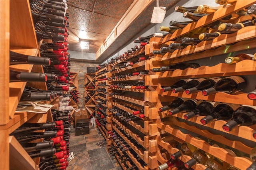
[[[75,136],[71,128],[70,150],[72,159],[67,170],[122,170],[117,160],[106,150],[106,141],[97,128],[90,128],[90,134]]]

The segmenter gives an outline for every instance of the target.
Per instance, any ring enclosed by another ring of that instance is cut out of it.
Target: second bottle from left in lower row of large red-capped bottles
[[[196,99],[189,99],[184,101],[184,103],[182,103],[179,107],[175,108],[175,109],[171,109],[169,111],[170,115],[174,115],[177,114],[179,112],[191,112],[194,109],[196,109],[196,106],[201,103],[202,101],[200,100],[196,100]]]

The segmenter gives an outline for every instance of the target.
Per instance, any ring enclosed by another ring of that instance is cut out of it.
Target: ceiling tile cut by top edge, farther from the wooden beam
[[[96,0],[69,0],[68,8],[79,8],[82,10],[87,10],[89,12],[93,11],[94,4]]]

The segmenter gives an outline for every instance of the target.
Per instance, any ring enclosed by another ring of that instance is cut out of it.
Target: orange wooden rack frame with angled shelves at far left
[[[31,56],[40,57],[34,23],[30,10],[29,0],[0,1],[1,15],[1,84],[0,84],[0,167],[3,170],[30,169],[38,170],[40,158],[32,159],[19,142],[10,134],[26,122],[45,123],[53,121],[51,110],[45,114],[31,112],[15,112],[20,97],[26,85],[47,90],[46,83],[41,82],[14,82],[9,83],[10,68],[15,71],[41,72],[41,65],[12,65],[9,66],[9,50]],[[22,20],[20,19],[22,14]],[[17,29],[18,28],[18,29]],[[47,41],[47,40],[45,40]],[[58,107],[58,98],[46,103]],[[37,142],[42,141],[37,140]]]

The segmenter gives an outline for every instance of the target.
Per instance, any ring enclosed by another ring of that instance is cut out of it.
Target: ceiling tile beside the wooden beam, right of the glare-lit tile
[[[109,35],[118,21],[116,18],[94,13],[88,31]]]

